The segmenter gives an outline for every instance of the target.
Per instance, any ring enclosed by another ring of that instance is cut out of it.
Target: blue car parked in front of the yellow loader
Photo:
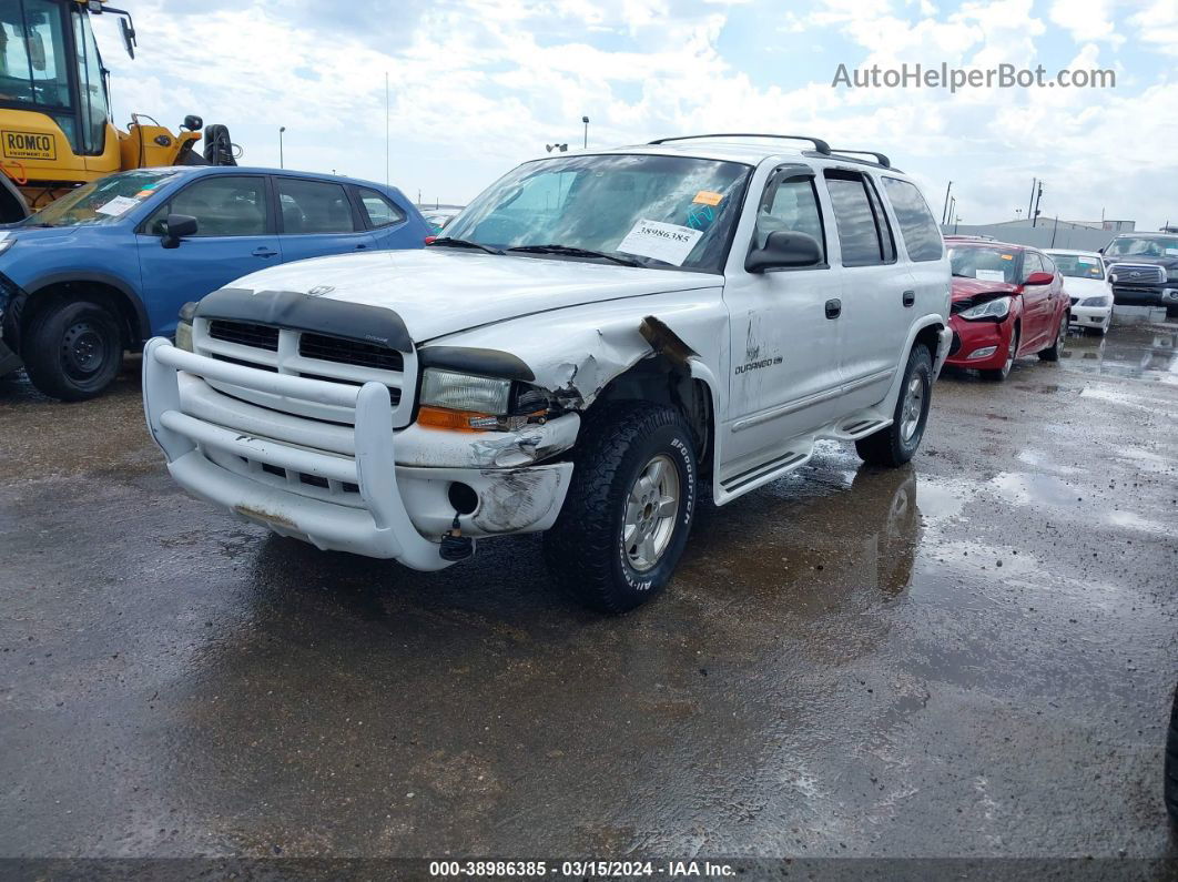
[[[419,248],[396,187],[272,168],[139,168],[0,230],[0,376],[62,400],[101,392],[125,350],[173,336],[188,300],[274,264]]]

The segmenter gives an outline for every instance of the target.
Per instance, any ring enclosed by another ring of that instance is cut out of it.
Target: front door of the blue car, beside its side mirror
[[[144,303],[152,333],[172,334],[180,307],[251,272],[282,261],[263,174],[209,174],[172,194],[139,227]],[[161,245],[168,214],[197,219],[197,234]]]

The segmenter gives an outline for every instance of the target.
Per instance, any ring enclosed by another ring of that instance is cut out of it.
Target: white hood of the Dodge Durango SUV
[[[436,247],[298,260],[225,287],[382,306],[423,343],[536,312],[722,285],[708,273]]]

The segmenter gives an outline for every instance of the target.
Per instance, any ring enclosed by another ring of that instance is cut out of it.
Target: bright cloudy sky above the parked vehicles
[[[243,164],[464,204],[545,145],[780,132],[887,153],[940,215],[1178,223],[1178,0],[125,0],[115,121],[229,126]],[[840,65],[1112,69],[1113,88],[846,88]],[[385,113],[388,74],[388,115]]]

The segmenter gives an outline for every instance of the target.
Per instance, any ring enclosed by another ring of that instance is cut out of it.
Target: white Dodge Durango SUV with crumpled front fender
[[[727,503],[820,438],[906,463],[948,313],[886,157],[664,139],[527,163],[424,250],[216,291],[191,351],[147,345],[144,397],[197,497],[419,570],[547,531],[552,576],[617,612],[669,581],[700,488]]]

